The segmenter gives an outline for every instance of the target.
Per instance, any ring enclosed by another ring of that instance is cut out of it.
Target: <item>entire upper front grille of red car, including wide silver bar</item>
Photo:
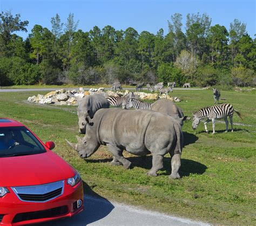
[[[36,186],[12,187],[18,198],[25,202],[47,202],[63,194],[64,181]]]

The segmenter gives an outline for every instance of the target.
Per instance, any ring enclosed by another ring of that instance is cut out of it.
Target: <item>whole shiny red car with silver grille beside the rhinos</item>
[[[0,225],[71,217],[83,210],[80,175],[26,126],[0,118]]]

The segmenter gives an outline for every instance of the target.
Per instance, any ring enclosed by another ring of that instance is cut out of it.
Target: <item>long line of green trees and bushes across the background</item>
[[[28,20],[11,11],[0,13],[0,85],[32,84],[129,84],[190,82],[194,86],[255,85],[256,39],[238,19],[227,30],[211,25],[203,13],[188,13],[167,21],[169,31],[156,35],[133,28],[77,30],[79,21],[70,13],[63,23],[58,14],[52,28],[33,26],[23,40]],[[183,32],[185,31],[185,32]]]

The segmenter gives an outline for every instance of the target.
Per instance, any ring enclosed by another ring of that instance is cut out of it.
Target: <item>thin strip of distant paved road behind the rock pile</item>
[[[90,88],[84,88],[84,90],[89,90]],[[135,88],[123,88],[123,90],[134,90]],[[61,90],[61,88],[4,88],[0,89],[0,92],[30,92],[30,91],[52,91]],[[79,88],[65,88],[65,90],[79,90]],[[110,90],[110,88],[105,88],[105,90]],[[146,91],[146,88],[143,88]],[[203,88],[173,88],[173,90],[203,90]]]

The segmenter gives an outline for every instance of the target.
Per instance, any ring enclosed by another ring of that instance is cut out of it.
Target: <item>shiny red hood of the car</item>
[[[0,158],[0,187],[29,186],[68,179],[76,170],[53,152]]]

